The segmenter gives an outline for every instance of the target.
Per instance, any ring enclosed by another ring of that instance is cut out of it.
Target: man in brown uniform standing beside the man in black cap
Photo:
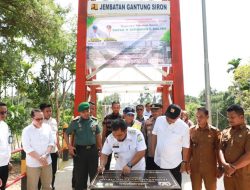
[[[190,128],[190,169],[193,190],[201,190],[202,180],[206,190],[216,190],[220,132],[208,124],[208,110],[200,107],[196,112],[197,125]]]

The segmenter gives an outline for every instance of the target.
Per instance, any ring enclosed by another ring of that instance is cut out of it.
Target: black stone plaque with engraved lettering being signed
[[[132,171],[122,175],[121,171],[109,170],[97,174],[91,182],[91,190],[105,189],[181,189],[168,170]]]

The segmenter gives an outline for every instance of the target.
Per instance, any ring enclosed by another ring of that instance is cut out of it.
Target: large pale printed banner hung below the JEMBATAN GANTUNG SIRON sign
[[[168,66],[171,63],[167,15],[88,17],[87,63],[90,68]]]

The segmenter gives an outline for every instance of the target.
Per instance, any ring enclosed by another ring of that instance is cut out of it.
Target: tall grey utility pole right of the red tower
[[[201,1],[202,1],[203,46],[204,46],[205,99],[206,99],[206,108],[209,111],[209,123],[212,124],[211,88],[210,88],[210,74],[209,74],[209,62],[208,62],[208,45],[207,45],[206,2],[205,0]]]

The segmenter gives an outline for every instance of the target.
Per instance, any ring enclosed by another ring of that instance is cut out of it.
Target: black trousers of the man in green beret
[[[98,150],[96,145],[76,146],[75,190],[87,189],[88,176],[92,181],[97,173]]]

